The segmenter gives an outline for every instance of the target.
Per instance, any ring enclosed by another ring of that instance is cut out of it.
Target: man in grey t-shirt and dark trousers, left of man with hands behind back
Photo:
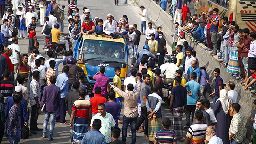
[[[147,113],[147,96],[152,93],[150,87],[147,85],[150,81],[150,75],[144,74],[143,75],[143,83],[141,84],[141,91],[140,91],[140,101],[141,101],[141,115],[138,118],[136,124],[136,130],[139,130],[141,124],[145,120],[145,131],[144,134],[148,138],[148,113]]]

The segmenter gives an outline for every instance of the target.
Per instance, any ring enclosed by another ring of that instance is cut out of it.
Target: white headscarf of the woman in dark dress
[[[220,101],[224,113],[228,114],[231,100],[228,98],[228,91],[225,89],[220,90],[219,98],[216,103]]]

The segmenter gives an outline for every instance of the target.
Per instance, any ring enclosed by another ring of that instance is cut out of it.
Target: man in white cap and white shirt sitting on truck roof
[[[113,16],[111,13],[109,13],[107,17],[108,19],[105,20],[103,24],[103,32],[112,38],[117,38],[117,35],[115,35],[115,33],[118,32],[116,21],[113,20]]]

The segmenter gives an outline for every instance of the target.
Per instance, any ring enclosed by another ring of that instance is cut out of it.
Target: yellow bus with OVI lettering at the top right
[[[209,8],[218,8],[221,17],[227,16],[239,28],[249,28],[256,33],[256,0],[196,0],[197,15]]]

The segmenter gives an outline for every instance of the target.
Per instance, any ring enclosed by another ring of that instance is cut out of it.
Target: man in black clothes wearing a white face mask
[[[164,33],[158,32],[158,36],[161,40],[158,47],[158,52],[160,53],[158,57],[158,67],[160,67],[162,64],[164,64],[164,57],[165,57],[165,54],[168,54],[168,52],[166,48],[166,40],[164,38]]]

